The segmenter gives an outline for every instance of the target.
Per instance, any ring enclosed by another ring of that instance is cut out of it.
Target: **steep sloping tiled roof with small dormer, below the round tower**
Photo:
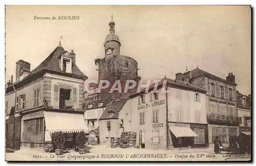
[[[104,120],[104,119],[111,119],[111,118],[118,118],[118,112],[123,108],[124,104],[129,100],[129,98],[125,99],[120,99],[118,101],[113,100],[111,104],[109,104],[105,110],[103,111],[102,115],[100,116],[99,120]],[[108,112],[114,111],[112,117],[108,117]]]

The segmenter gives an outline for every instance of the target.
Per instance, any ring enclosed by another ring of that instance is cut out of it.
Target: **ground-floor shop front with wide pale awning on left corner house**
[[[74,149],[76,136],[86,129],[82,113],[40,110],[22,118],[22,148],[42,148],[52,144],[52,134],[65,133],[66,149]]]

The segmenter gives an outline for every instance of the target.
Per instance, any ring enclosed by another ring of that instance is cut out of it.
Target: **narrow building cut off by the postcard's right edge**
[[[237,90],[238,118],[240,133],[251,135],[251,96]]]

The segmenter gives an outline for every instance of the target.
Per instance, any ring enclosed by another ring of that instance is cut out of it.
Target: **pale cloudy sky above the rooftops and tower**
[[[142,80],[175,79],[197,66],[223,79],[236,76],[237,90],[251,94],[251,18],[248,6],[7,6],[6,82],[16,61],[31,70],[58,46],[74,50],[76,64],[97,79],[94,60],[104,57],[109,21],[121,42],[120,55],[138,62]],[[79,16],[76,20],[37,17]]]

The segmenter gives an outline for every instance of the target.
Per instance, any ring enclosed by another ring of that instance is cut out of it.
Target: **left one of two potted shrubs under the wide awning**
[[[62,131],[57,131],[52,134],[52,141],[55,145],[55,153],[57,155],[62,153],[62,150],[65,149],[65,134]]]

